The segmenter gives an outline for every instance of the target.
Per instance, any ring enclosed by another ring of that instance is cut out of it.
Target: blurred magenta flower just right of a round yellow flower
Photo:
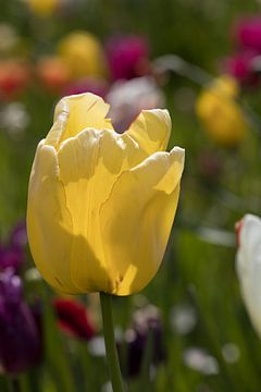
[[[107,56],[112,78],[130,79],[149,73],[149,48],[144,37],[116,36],[108,40]]]

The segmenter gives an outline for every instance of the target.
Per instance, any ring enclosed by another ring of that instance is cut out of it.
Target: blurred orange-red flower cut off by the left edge
[[[0,99],[13,99],[29,82],[27,64],[18,60],[0,61]]]

